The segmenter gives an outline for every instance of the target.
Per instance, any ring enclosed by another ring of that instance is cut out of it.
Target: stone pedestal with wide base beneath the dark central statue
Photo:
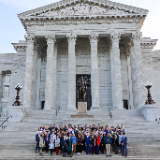
[[[78,102],[78,113],[71,115],[71,118],[93,118],[93,115],[87,113],[87,102]]]

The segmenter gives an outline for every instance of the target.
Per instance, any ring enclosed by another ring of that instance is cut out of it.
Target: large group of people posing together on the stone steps
[[[47,153],[50,150],[51,155],[56,152],[56,155],[72,157],[76,152],[98,155],[104,154],[106,150],[107,157],[111,156],[112,151],[127,157],[127,137],[123,124],[111,128],[100,124],[41,126],[38,128],[35,141],[35,152],[38,151],[40,155],[42,151]]]

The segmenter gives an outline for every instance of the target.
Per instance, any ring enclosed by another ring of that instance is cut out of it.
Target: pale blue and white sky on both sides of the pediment
[[[160,0],[113,0],[114,2],[132,5],[149,10],[142,27],[143,37],[160,39]],[[0,0],[0,53],[15,53],[11,43],[24,40],[25,30],[17,14],[56,0]],[[158,41],[155,49],[160,49]]]

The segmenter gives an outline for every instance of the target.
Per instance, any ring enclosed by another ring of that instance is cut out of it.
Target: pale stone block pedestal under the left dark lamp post
[[[8,108],[8,116],[10,115],[12,118],[8,119],[9,122],[21,122],[25,116],[23,106],[10,106]]]

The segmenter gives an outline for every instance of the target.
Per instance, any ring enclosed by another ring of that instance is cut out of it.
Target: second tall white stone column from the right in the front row
[[[121,73],[121,61],[120,61],[120,49],[119,40],[121,34],[118,32],[111,33],[112,41],[112,63],[113,63],[113,81],[114,81],[114,106],[113,109],[123,108],[123,93],[122,93],[122,73]]]

